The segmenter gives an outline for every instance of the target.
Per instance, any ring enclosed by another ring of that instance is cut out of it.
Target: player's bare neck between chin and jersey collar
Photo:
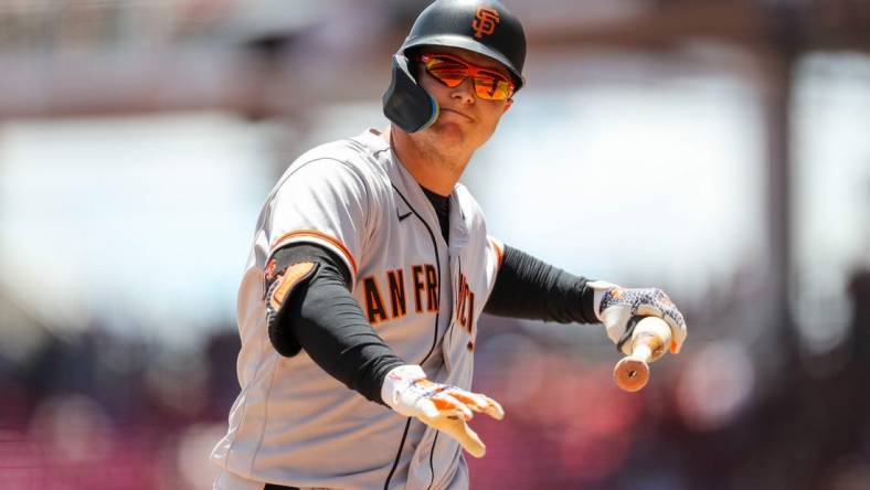
[[[421,145],[406,132],[390,128],[382,134],[390,141],[399,161],[424,188],[441,195],[449,195],[471,156],[450,156],[435,146]]]

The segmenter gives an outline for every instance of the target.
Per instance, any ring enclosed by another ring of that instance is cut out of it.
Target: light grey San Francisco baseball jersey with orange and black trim
[[[290,164],[268,196],[238,291],[242,391],[212,452],[243,478],[332,489],[463,489],[461,449],[415,418],[365,400],[305,353],[269,342],[264,268],[295,243],[329,248],[353,276],[374,330],[428,379],[471,387],[477,320],[502,246],[457,184],[449,244],[435,210],[380,132],[320,146]]]

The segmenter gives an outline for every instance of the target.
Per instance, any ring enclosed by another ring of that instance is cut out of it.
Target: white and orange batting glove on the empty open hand
[[[501,420],[505,411],[495,400],[447,384],[426,380],[418,365],[406,364],[391,370],[381,386],[381,398],[390,408],[416,417],[456,439],[471,456],[480,458],[486,446],[466,422],[480,412]]]

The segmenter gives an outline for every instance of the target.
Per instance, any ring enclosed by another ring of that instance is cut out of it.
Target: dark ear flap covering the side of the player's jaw
[[[438,118],[438,103],[417,83],[407,57],[393,55],[392,79],[383,94],[383,114],[406,132],[416,132]]]

